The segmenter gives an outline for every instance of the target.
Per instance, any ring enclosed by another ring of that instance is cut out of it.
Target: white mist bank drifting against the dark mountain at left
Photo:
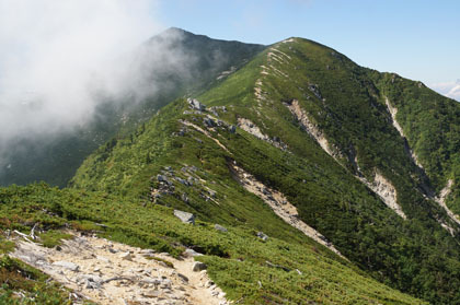
[[[165,85],[156,80],[157,70],[186,73],[191,58],[169,46],[180,37],[142,44],[164,28],[156,5],[0,0],[0,168],[23,140],[84,126],[101,101],[137,103],[154,93]]]

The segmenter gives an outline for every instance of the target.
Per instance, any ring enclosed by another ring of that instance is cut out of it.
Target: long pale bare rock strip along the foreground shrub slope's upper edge
[[[309,226],[298,218],[296,207],[292,206],[281,192],[266,187],[264,184],[255,179],[253,175],[246,173],[243,168],[239,167],[238,165],[231,164],[231,167],[239,183],[248,191],[256,195],[262,200],[264,200],[264,202],[267,203],[280,219],[283,219],[285,222],[302,232],[308,237],[314,239],[317,243],[330,248],[335,254],[342,256],[341,253],[334,247],[334,245],[332,245],[332,243],[327,241],[327,238],[325,238],[321,233],[319,233],[313,227]],[[258,237],[263,238],[263,235],[265,234],[262,232],[260,233],[262,237]],[[266,236],[266,238],[268,238],[268,236]]]

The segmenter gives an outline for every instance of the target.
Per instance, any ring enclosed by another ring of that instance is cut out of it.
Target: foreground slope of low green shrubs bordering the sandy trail
[[[278,225],[279,232],[263,242],[249,225],[227,226],[228,232],[222,233],[214,223],[200,220],[195,225],[183,224],[171,208],[142,207],[141,201],[104,192],[11,186],[0,189],[0,202],[1,232],[28,232],[37,223],[37,230],[70,226],[174,256],[185,246],[193,247],[206,254],[200,261],[208,265],[212,280],[241,304],[425,304],[370,279],[268,214],[265,221]],[[0,274],[2,268],[13,265],[0,260]],[[0,292],[8,293],[0,300],[9,302],[13,291],[27,284],[18,286],[7,280]],[[46,304],[65,304],[59,296],[43,294],[39,300],[48,301]]]

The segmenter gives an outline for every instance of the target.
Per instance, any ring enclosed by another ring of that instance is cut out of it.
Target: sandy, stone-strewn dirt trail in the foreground
[[[230,304],[205,270],[193,271],[193,257],[179,260],[88,236],[53,249],[22,241],[16,246],[12,257],[99,304]]]

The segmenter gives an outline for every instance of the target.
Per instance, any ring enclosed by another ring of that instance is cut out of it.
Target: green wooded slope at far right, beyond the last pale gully
[[[460,109],[457,101],[446,98],[421,82],[396,74],[372,74],[379,90],[393,108],[394,121],[407,138],[407,144],[430,178],[434,190],[460,214]],[[440,199],[440,198],[439,198]]]

